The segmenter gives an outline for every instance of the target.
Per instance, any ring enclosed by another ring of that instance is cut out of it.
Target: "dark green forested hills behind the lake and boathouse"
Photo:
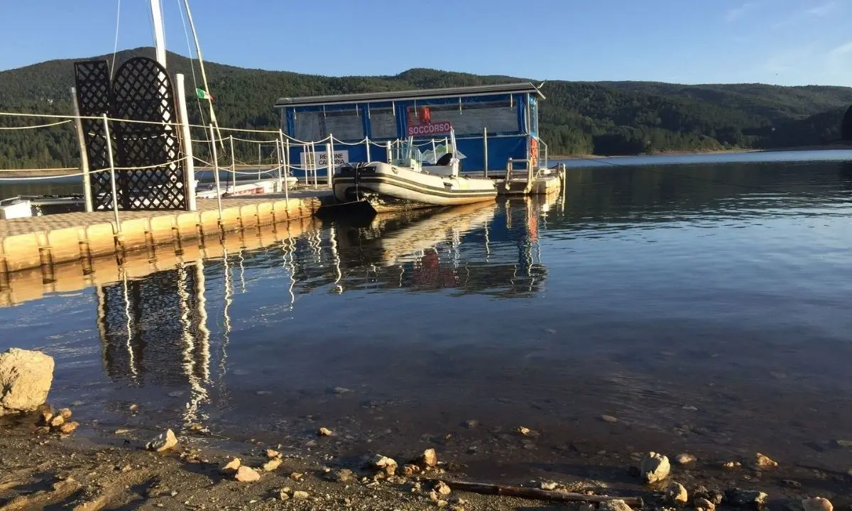
[[[153,49],[118,53],[118,62]],[[112,55],[96,57],[112,59]],[[187,75],[186,57],[170,54],[171,72]],[[198,74],[198,63],[195,72]],[[388,77],[329,78],[206,63],[216,116],[222,126],[275,128],[273,103],[281,96],[505,83],[521,78],[412,69]],[[200,79],[200,78],[199,78]],[[0,72],[0,112],[71,112],[73,60],[51,60]],[[553,153],[630,154],[704,151],[727,147],[806,146],[835,141],[845,87],[780,87],[760,83],[680,85],[649,82],[547,82],[542,89],[541,135]],[[193,103],[194,105],[194,100]],[[198,107],[190,109],[199,119]],[[0,117],[0,126],[20,125]],[[0,168],[72,165],[76,139],[59,129],[0,130]]]

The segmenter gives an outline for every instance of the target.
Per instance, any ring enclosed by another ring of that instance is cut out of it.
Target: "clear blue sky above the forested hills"
[[[187,55],[178,5],[168,48]],[[852,0],[192,0],[205,60],[315,74],[852,85]],[[0,0],[0,70],[111,53],[118,0]],[[152,45],[122,0],[118,48]]]

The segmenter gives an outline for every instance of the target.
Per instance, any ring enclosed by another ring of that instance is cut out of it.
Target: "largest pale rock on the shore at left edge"
[[[48,399],[53,383],[53,357],[9,348],[0,354],[0,416],[34,411]]]

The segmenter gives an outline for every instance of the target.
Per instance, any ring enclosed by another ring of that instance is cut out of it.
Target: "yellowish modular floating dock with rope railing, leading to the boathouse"
[[[0,287],[4,275],[28,268],[52,268],[75,261],[114,255],[123,261],[135,250],[171,245],[176,251],[189,245],[216,243],[231,231],[249,232],[262,226],[313,217],[331,202],[330,191],[291,192],[255,197],[199,199],[196,211],[112,211],[64,213],[0,221]]]

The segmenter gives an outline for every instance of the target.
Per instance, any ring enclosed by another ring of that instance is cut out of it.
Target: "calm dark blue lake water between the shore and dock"
[[[845,470],[814,446],[852,436],[850,215],[843,162],[598,164],[564,196],[334,221],[0,308],[0,348],[55,356],[51,399],[103,428],[324,425],[352,453],[453,433],[475,464],[475,419],[542,432],[506,472],[579,438]]]

